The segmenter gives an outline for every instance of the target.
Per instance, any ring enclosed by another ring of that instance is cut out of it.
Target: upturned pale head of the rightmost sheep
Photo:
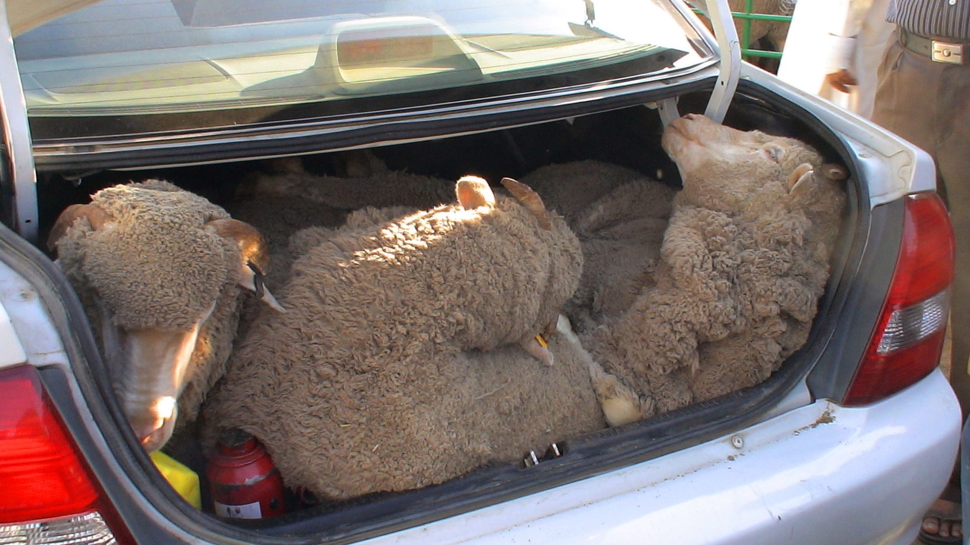
[[[804,192],[799,180],[805,183],[815,172],[840,176],[839,167],[823,168],[822,157],[807,144],[739,131],[695,113],[671,122],[661,143],[680,169],[681,199],[727,213],[745,209],[755,194],[774,192],[783,199]]]

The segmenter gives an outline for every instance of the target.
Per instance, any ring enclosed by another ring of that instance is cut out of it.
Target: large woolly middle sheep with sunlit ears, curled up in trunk
[[[239,344],[204,409],[207,442],[251,433],[288,486],[333,500],[603,428],[589,356],[535,338],[561,323],[579,242],[526,186],[502,184],[515,199],[465,176],[457,206],[364,208],[294,235],[289,311],[262,312]]]

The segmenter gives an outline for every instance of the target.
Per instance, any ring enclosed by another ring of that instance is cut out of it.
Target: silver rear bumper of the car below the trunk
[[[656,460],[371,542],[908,544],[950,477],[959,434],[958,404],[936,370],[872,405],[818,401]]]

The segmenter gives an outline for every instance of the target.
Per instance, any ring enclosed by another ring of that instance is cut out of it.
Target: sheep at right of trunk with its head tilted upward
[[[583,338],[637,418],[757,384],[805,342],[845,204],[845,170],[796,140],[691,113],[662,144],[684,187],[661,260]]]

